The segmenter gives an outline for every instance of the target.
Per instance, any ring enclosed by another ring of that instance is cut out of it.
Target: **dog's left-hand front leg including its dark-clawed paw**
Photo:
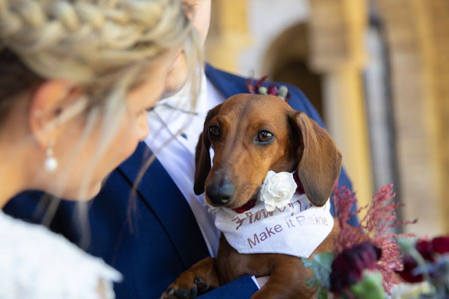
[[[220,287],[220,276],[217,269],[217,260],[209,257],[181,273],[160,298],[194,299],[218,287]]]

